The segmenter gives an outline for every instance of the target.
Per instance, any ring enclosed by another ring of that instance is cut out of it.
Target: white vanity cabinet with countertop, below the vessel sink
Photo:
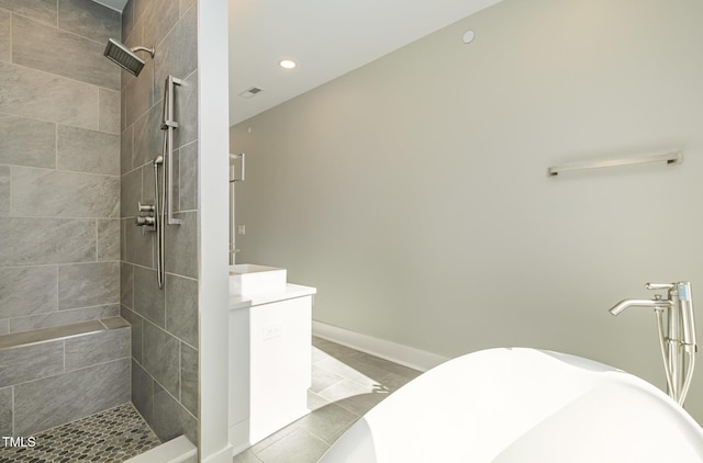
[[[235,454],[308,414],[314,287],[230,298],[230,442]]]

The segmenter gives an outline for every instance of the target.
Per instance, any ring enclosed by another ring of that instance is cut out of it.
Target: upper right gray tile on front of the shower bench
[[[66,371],[129,358],[132,350],[130,328],[109,329],[65,341]]]

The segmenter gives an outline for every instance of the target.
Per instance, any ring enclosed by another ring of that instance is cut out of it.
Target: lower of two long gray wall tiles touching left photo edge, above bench
[[[96,221],[0,217],[0,267],[96,260]]]

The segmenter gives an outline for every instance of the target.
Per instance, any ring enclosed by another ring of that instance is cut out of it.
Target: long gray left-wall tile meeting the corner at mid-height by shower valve
[[[119,217],[120,178],[18,167],[12,213],[25,216]]]

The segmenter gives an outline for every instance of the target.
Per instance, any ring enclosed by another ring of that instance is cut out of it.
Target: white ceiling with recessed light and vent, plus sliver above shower
[[[96,0],[122,11],[126,0]],[[201,0],[207,1],[207,0]],[[501,0],[230,0],[230,124]],[[279,66],[283,58],[295,69]],[[239,93],[261,89],[252,98]]]

